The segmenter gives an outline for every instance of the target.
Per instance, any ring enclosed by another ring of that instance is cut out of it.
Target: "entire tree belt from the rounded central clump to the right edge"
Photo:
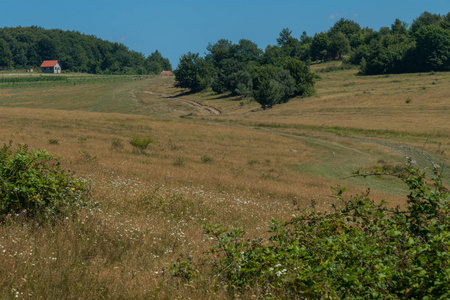
[[[264,51],[249,40],[237,44],[221,39],[209,44],[204,56],[187,53],[174,71],[175,86],[192,92],[252,96],[270,108],[295,96],[314,93],[311,63],[342,60],[360,67],[361,74],[450,70],[450,13],[422,13],[410,26],[396,19],[379,31],[338,20],[328,31],[300,38],[283,29]]]

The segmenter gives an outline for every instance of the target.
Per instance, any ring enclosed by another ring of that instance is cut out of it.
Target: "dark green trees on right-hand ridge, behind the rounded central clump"
[[[300,39],[285,28],[276,46],[266,51],[281,52],[302,61],[342,59],[360,66],[362,74],[412,73],[450,70],[450,13],[422,13],[411,25],[396,19],[390,27],[376,31],[347,19],[338,20],[328,31]]]

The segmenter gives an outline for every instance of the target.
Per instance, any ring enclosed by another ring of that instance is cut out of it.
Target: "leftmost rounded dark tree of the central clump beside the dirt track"
[[[175,86],[189,89],[191,92],[204,90],[207,84],[205,61],[198,53],[187,53],[180,58],[178,68],[174,71]]]

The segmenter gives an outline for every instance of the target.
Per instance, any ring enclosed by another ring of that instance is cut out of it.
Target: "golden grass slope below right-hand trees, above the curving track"
[[[448,139],[448,73],[366,77],[356,72],[319,73],[322,80],[316,84],[316,97],[293,99],[247,119],[444,135]],[[407,99],[411,103],[406,103]]]

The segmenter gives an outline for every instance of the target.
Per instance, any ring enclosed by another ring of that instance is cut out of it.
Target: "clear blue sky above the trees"
[[[446,15],[450,0],[1,0],[0,27],[36,25],[75,30],[123,43],[145,56],[159,50],[174,68],[182,54],[208,43],[249,39],[276,44],[283,28],[299,38],[326,31],[340,18],[379,30],[422,12]]]

